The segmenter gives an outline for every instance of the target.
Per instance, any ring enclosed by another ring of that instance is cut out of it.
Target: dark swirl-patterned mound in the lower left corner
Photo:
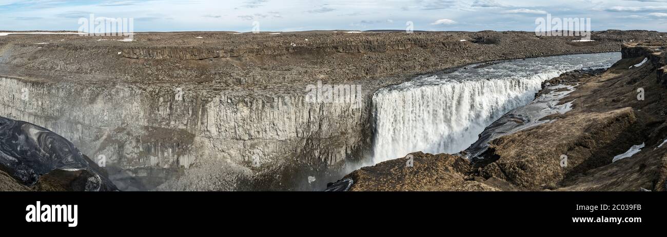
[[[49,187],[47,190],[116,190],[95,162],[45,128],[0,117],[0,144],[0,170],[22,185]],[[59,184],[43,184],[48,180]],[[21,186],[9,189],[21,190]]]

